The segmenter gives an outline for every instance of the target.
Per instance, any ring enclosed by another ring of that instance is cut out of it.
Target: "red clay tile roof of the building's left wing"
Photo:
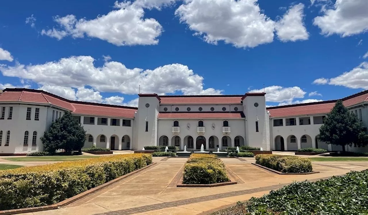
[[[138,110],[135,107],[71,101],[43,90],[33,89],[5,89],[0,94],[0,101],[52,104],[70,110],[75,114],[121,118],[134,118],[134,113]]]

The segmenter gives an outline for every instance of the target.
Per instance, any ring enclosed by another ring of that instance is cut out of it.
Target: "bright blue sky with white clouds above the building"
[[[139,85],[159,94],[265,86],[268,105],[282,105],[368,88],[366,0],[1,4],[0,89],[137,105]]]

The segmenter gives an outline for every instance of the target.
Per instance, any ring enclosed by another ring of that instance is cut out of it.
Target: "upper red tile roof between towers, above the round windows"
[[[160,104],[240,104],[243,95],[229,96],[160,96]]]

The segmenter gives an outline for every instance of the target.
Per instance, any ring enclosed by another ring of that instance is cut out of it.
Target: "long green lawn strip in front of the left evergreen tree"
[[[87,155],[55,155],[55,156],[39,156],[39,157],[7,157],[3,158],[5,160],[11,161],[74,161],[74,160],[84,160],[87,158],[93,158],[98,156],[87,156]]]

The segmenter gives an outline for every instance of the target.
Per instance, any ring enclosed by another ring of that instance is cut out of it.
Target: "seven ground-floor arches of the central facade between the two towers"
[[[245,144],[245,141],[242,136],[236,136],[234,140],[232,140],[231,137],[227,135],[223,136],[220,142],[217,136],[210,136],[206,139],[206,137],[202,135],[197,136],[195,139],[190,135],[185,136],[183,139],[178,135],[174,135],[171,137],[171,141],[169,141],[169,137],[166,135],[162,135],[159,138],[159,145],[172,145],[182,149],[184,145],[186,145],[188,149],[201,149],[202,144],[205,149],[225,149],[227,147],[241,147]]]

